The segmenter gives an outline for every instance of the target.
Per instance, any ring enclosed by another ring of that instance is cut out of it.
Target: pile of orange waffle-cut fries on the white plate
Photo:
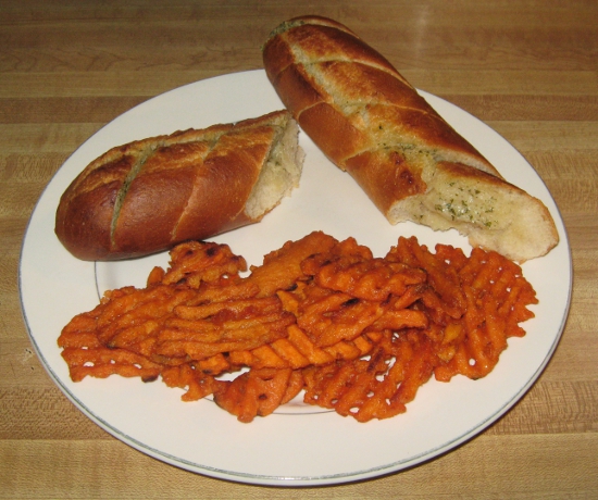
[[[537,303],[504,257],[414,237],[375,258],[315,232],[245,271],[225,245],[177,246],[146,288],[107,291],[63,328],[71,378],[161,378],[242,423],[301,392],[359,422],[388,418],[433,376],[488,375]]]

